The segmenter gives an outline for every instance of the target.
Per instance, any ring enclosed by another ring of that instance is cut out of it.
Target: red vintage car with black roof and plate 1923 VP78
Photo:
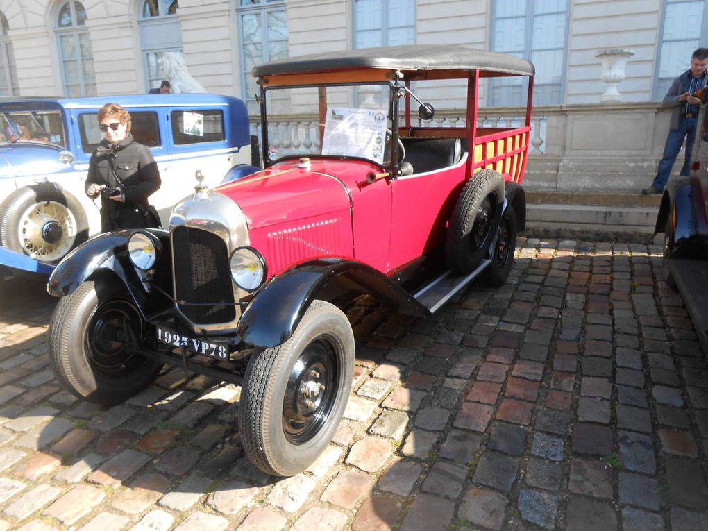
[[[534,68],[459,46],[295,57],[253,69],[265,169],[179,202],[169,231],[103,234],[52,274],[50,362],[114,404],[165,363],[241,384],[239,431],[268,474],[307,468],[345,409],[372,295],[430,316],[482,276],[505,282],[525,226]],[[515,79],[513,79],[515,77]],[[480,86],[525,89],[519,127],[479,127]],[[448,83],[462,127],[418,95]],[[414,110],[417,108],[417,116]]]

